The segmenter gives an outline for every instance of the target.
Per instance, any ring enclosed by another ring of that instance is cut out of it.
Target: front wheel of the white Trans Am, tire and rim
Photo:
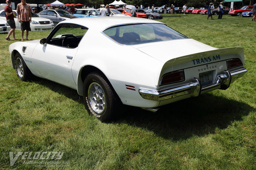
[[[15,54],[15,71],[17,77],[22,81],[27,81],[33,77],[33,74],[19,53]]]

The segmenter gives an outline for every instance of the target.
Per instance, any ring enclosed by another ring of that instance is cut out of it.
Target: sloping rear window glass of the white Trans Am
[[[133,24],[111,27],[103,31],[116,42],[136,45],[188,38],[164,24]]]

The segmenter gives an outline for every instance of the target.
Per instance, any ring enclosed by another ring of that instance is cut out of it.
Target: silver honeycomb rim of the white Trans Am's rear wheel
[[[90,105],[97,114],[104,113],[106,109],[105,94],[102,87],[93,82],[88,88],[88,97],[90,99]]]

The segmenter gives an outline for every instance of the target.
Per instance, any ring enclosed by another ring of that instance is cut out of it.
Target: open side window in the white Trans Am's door
[[[62,24],[56,28],[54,34],[47,41],[49,44],[66,48],[76,48],[88,28],[76,24]]]

